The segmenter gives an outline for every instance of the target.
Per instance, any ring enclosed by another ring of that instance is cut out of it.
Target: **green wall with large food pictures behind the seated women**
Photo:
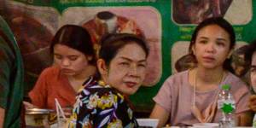
[[[239,45],[256,38],[255,1],[252,0],[2,0],[0,15],[15,32],[26,67],[26,92],[38,74],[51,64],[49,43],[65,24],[84,26],[95,44],[102,36],[96,15],[116,15],[113,32],[131,32],[147,39],[150,47],[147,78],[131,96],[137,111],[150,111],[161,84],[174,62],[188,53],[189,39],[204,18],[224,16],[234,25]]]

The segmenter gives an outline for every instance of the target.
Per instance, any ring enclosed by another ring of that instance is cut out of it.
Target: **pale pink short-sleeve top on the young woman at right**
[[[232,73],[228,73],[221,84],[230,84],[231,93],[236,101],[236,113],[243,113],[247,107],[247,99],[250,95],[247,85]],[[219,89],[195,92],[195,104],[197,108],[204,111],[212,101],[216,99]],[[160,91],[154,96],[154,102],[165,108],[170,113],[171,125],[193,125],[199,123],[191,112],[193,104],[193,86],[189,84],[189,70],[176,73],[166,79]],[[212,122],[218,122],[221,112],[215,113]]]

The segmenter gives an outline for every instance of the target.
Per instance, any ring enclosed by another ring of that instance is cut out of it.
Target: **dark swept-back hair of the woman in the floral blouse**
[[[103,59],[107,66],[109,66],[110,61],[112,61],[119,49],[123,48],[126,44],[138,44],[146,53],[146,57],[148,57],[149,49],[145,39],[134,34],[111,33],[103,36],[100,44],[99,58]]]

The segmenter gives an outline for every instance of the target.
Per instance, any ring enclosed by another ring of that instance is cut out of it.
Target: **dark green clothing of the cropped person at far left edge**
[[[24,68],[20,49],[8,24],[0,16],[0,107],[5,109],[4,128],[20,127]]]

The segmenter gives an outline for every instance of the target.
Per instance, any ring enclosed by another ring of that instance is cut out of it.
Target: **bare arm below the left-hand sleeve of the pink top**
[[[159,119],[159,123],[157,125],[158,128],[163,127],[166,125],[167,119],[169,118],[169,112],[166,111],[165,108],[162,108],[160,105],[157,103],[154,105],[154,109],[152,113],[150,114],[151,119]]]

